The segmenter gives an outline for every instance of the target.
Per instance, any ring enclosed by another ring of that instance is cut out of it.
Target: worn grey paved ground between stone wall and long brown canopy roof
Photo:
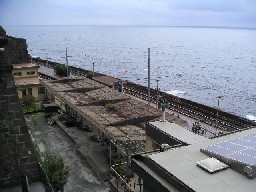
[[[109,186],[98,179],[86,161],[79,157],[76,145],[58,125],[49,126],[42,114],[27,116],[32,137],[38,143],[41,152],[50,152],[61,156],[70,169],[66,192],[108,192]],[[82,137],[79,137],[80,139]],[[95,144],[87,141],[89,147]]]

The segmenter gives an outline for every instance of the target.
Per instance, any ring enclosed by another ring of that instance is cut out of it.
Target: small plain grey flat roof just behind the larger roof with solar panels
[[[169,121],[154,121],[149,124],[155,126],[162,132],[170,135],[171,137],[177,138],[178,140],[187,144],[195,144],[200,142],[209,141],[208,138],[195,134],[180,125],[169,122]]]

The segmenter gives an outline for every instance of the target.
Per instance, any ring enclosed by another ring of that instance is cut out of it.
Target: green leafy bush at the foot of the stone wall
[[[45,153],[41,158],[41,164],[45,169],[55,191],[63,191],[68,182],[69,170],[64,165],[61,157]]]

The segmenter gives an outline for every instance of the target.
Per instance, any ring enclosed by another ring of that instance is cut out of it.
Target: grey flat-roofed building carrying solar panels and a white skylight
[[[143,180],[143,192],[255,191],[255,129],[215,139],[184,131],[170,122],[147,125],[147,136],[169,147],[133,156],[131,167]]]

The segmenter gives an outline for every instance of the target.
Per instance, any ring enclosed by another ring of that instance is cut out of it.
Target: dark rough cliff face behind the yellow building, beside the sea
[[[27,50],[26,39],[6,35],[5,30],[1,26],[0,36],[8,39],[8,45],[5,50],[8,53],[11,64],[29,62],[30,57]]]

